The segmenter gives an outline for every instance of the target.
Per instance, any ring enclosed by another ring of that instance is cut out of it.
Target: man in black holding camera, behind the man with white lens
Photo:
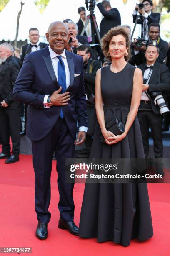
[[[145,39],[140,38],[138,40],[135,39],[133,42],[133,46],[134,46],[133,54],[134,54],[135,64],[137,66],[146,62],[145,50],[146,50],[147,44],[155,44],[158,46],[159,56],[157,61],[163,64],[168,52],[168,42],[160,38],[160,25],[158,23],[150,24],[148,41],[145,41]]]

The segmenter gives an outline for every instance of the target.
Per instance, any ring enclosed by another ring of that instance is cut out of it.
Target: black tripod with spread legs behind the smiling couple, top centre
[[[95,17],[95,14],[93,13],[93,10],[90,10],[90,14],[87,15],[87,20],[85,22],[85,26],[82,29],[81,36],[83,36],[83,34],[85,32],[85,29],[87,27],[87,23],[88,23],[89,20],[91,21],[91,30],[92,30],[92,42],[91,42],[91,44],[95,44],[95,32],[96,32],[97,39],[98,39],[99,44],[100,44],[100,41],[101,41],[100,33],[99,33],[99,29],[97,27],[96,17]]]

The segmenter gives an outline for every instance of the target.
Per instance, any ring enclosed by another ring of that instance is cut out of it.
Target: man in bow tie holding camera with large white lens
[[[159,56],[159,48],[157,46],[148,45],[145,56],[146,62],[138,66],[143,72],[144,80],[138,119],[143,138],[145,158],[148,158],[149,152],[149,128],[151,128],[153,137],[155,158],[162,158],[162,115],[163,112],[167,111],[166,94],[170,90],[168,67],[156,61]],[[163,96],[162,108],[160,101],[158,101],[158,95]],[[162,115],[160,114],[160,108]]]

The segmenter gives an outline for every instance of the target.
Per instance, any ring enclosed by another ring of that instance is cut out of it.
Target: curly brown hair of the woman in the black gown
[[[109,51],[109,43],[113,36],[122,35],[126,40],[126,47],[128,47],[128,56],[125,56],[125,61],[128,61],[130,59],[130,36],[123,27],[115,27],[111,28],[107,34],[105,34],[101,39],[101,47],[103,54],[105,57],[112,61],[111,56],[108,56],[107,53]]]

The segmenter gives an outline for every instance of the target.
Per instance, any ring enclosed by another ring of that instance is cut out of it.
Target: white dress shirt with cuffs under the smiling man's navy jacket
[[[33,48],[33,47],[32,47]],[[50,51],[50,57],[51,57],[51,61],[52,61],[52,66],[55,72],[56,77],[58,78],[58,74],[57,74],[57,67],[58,67],[58,61],[59,59],[57,58],[57,56],[59,56],[59,54],[55,53],[50,46],[48,46],[48,49]],[[62,61],[64,62],[64,66],[65,66],[65,75],[66,75],[66,87],[68,88],[70,85],[70,71],[68,68],[68,63],[67,63],[67,58],[65,55],[65,50],[62,52],[62,54],[60,54],[62,57]],[[47,100],[48,100],[48,96],[49,95],[45,95],[44,97],[44,108],[50,108],[47,106]],[[85,131],[87,133],[87,127],[85,126],[81,126],[79,127],[79,131]]]

